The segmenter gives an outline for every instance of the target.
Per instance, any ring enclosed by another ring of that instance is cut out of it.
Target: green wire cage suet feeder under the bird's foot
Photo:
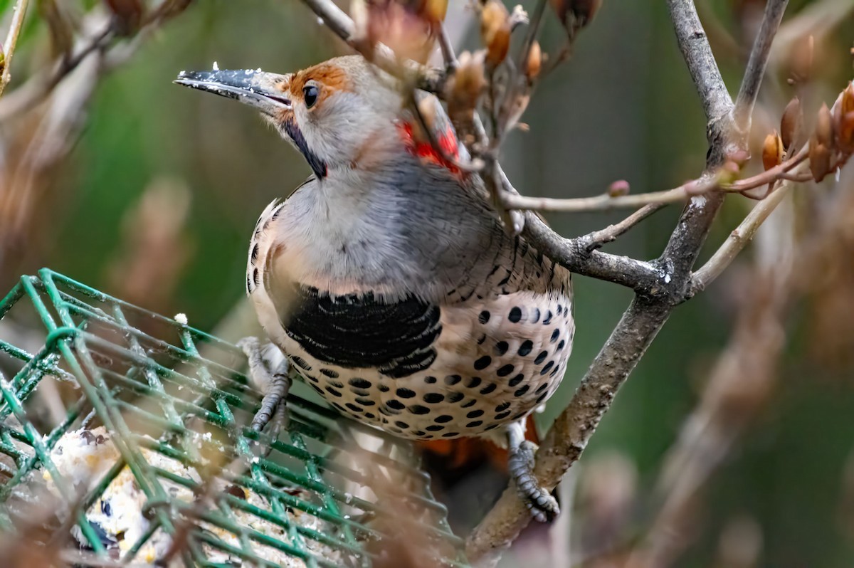
[[[70,565],[398,565],[401,544],[466,565],[407,443],[299,384],[278,438],[254,432],[245,367],[175,319],[20,278],[0,302],[0,536]]]

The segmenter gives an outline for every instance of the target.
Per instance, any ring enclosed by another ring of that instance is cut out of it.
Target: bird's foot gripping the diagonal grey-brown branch
[[[524,439],[524,423],[510,425],[507,432],[508,460],[507,469],[516,485],[519,496],[531,516],[541,523],[556,517],[560,512],[558,501],[546,489],[542,488],[534,475],[534,442]]]

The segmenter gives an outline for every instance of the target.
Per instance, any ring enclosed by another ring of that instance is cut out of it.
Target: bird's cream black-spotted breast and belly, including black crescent
[[[284,211],[274,202],[256,225],[249,295],[296,371],[342,413],[412,439],[478,436],[557,389],[575,332],[570,273],[524,238],[495,233],[485,267],[441,296],[391,296],[301,272],[276,237],[295,213]]]

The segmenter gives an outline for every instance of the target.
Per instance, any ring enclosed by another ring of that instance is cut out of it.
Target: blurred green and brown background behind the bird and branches
[[[3,30],[11,4],[0,0]],[[309,169],[248,108],[171,81],[214,61],[284,73],[346,47],[296,0],[206,0],[174,3],[142,30],[126,18],[126,37],[104,38],[96,57],[63,57],[75,42],[85,45],[81,36],[97,38],[107,8],[122,5],[97,4],[44,0],[25,22],[0,98],[0,293],[50,266],[155,312],[186,313],[202,330],[233,330],[224,322],[247,317],[254,222]],[[697,4],[737,91],[764,3]],[[462,0],[451,0],[448,18],[459,49],[477,48],[477,20]],[[63,32],[67,22],[76,36]],[[561,33],[552,17],[544,48]],[[854,77],[852,49],[850,0],[790,3],[753,121],[754,155],[796,92],[807,116],[832,104]],[[63,65],[74,69],[48,91]],[[664,3],[606,0],[570,61],[537,85],[523,120],[529,132],[512,134],[502,163],[526,195],[594,196],[617,179],[633,193],[664,190],[705,164],[705,120]],[[760,168],[752,162],[747,173]],[[506,565],[557,558],[547,553],[624,565],[639,550],[662,548],[658,565],[854,565],[854,202],[839,199],[854,193],[854,170],[833,178],[799,185],[755,247],[676,310],[564,482],[564,511],[573,514],[535,530],[548,533],[548,547],[534,544],[541,534],[530,536]],[[704,258],[753,203],[728,199]],[[658,256],[680,208],[606,249]],[[834,246],[814,250],[808,268],[795,265],[797,283],[774,300],[771,325],[756,325],[765,317],[762,291],[789,278],[759,269],[769,255],[775,264],[780,243],[797,249],[827,208],[842,215]],[[622,215],[547,217],[573,237]],[[616,285],[576,278],[576,344],[564,384],[536,417],[541,428],[565,406],[630,298]],[[496,482],[486,495],[484,468],[474,464],[437,489],[456,503],[459,532],[500,491]],[[691,481],[674,481],[674,472]]]

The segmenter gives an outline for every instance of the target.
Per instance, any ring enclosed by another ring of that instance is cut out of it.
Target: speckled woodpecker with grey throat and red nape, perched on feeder
[[[412,105],[364,57],[216,67],[175,83],[255,108],[312,170],[250,239],[246,291],[267,337],[351,419],[410,440],[506,443],[519,495],[552,518],[524,424],[564,376],[570,272],[502,224],[442,105]],[[256,428],[290,386],[271,374]]]

